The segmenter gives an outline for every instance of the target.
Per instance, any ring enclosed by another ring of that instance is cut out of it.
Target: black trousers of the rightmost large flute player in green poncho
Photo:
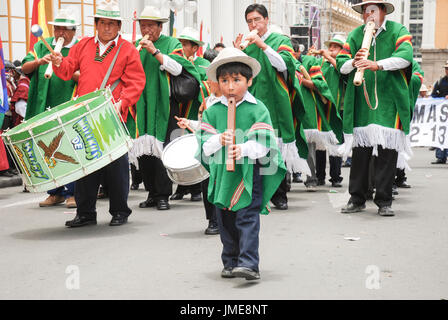
[[[366,202],[369,189],[369,165],[373,157],[372,147],[353,148],[352,166],[348,191],[350,202],[362,205]],[[392,185],[395,180],[398,152],[378,147],[378,156],[373,157],[373,183],[375,185],[374,202],[378,207],[392,205]]]

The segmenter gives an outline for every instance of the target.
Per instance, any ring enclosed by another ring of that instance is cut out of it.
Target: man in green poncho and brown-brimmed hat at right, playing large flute
[[[398,153],[412,153],[408,137],[412,36],[403,25],[385,19],[394,11],[390,2],[363,1],[352,8],[363,15],[366,24],[375,23],[376,33],[371,47],[363,49],[365,25],[356,28],[336,59],[340,72],[349,75],[344,97],[344,155],[353,147],[351,198],[341,212],[353,213],[365,208],[369,162],[373,156],[374,202],[379,215],[393,216],[392,185]],[[364,81],[359,87],[353,83],[357,69],[364,70]]]

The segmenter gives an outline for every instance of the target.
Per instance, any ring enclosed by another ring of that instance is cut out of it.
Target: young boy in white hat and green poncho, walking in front
[[[197,135],[201,162],[210,172],[208,199],[217,207],[223,278],[260,279],[259,214],[269,212],[286,173],[269,111],[248,92],[260,69],[258,61],[235,48],[223,49],[207,69],[222,96],[204,111]],[[230,98],[236,102],[235,132],[227,130]],[[233,172],[226,170],[227,156],[236,160]]]

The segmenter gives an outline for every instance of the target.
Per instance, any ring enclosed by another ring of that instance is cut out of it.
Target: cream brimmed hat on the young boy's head
[[[215,82],[218,82],[216,78],[216,70],[226,63],[231,62],[241,62],[247,64],[252,69],[253,77],[255,78],[261,71],[260,63],[249,57],[243,51],[236,48],[224,48],[218,54],[218,56],[213,60],[213,62],[207,68],[207,77]]]

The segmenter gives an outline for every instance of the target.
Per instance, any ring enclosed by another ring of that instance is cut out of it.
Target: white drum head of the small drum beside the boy
[[[196,166],[199,161],[194,157],[198,150],[198,141],[194,134],[179,137],[166,146],[162,162],[167,168],[184,169]]]

